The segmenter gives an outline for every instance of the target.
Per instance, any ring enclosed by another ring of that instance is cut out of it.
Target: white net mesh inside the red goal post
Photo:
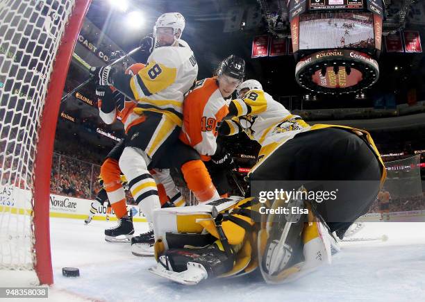
[[[0,270],[33,269],[33,165],[74,0],[0,0]]]

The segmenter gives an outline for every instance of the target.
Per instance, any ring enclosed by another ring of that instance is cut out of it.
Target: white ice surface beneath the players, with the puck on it
[[[385,234],[389,239],[342,242],[331,266],[287,285],[267,285],[254,273],[194,287],[150,274],[147,269],[155,261],[133,256],[130,244],[105,242],[103,229],[115,223],[85,226],[82,220],[51,218],[53,300],[424,301],[425,223],[369,222],[355,237]],[[143,232],[147,224],[135,224],[135,229]],[[65,278],[62,267],[78,267],[81,276]]]

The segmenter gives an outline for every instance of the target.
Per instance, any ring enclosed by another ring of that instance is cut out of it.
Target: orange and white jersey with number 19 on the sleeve
[[[217,123],[227,114],[217,78],[198,81],[183,103],[180,140],[197,150],[203,160],[209,160],[217,149]]]

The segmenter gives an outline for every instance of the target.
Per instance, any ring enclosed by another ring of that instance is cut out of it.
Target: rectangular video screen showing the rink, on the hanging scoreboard
[[[374,49],[372,12],[320,12],[299,19],[299,49]]]

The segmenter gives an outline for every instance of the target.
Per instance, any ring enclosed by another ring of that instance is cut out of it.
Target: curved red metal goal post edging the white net
[[[34,163],[34,236],[35,236],[35,271],[40,284],[53,283],[51,266],[49,200],[50,174],[53,157],[53,142],[60,107],[60,98],[65,87],[69,64],[72,60],[78,33],[92,0],[76,0],[74,10],[69,16],[65,33],[61,39],[51,81],[47,90],[46,101],[42,111],[41,125]]]

